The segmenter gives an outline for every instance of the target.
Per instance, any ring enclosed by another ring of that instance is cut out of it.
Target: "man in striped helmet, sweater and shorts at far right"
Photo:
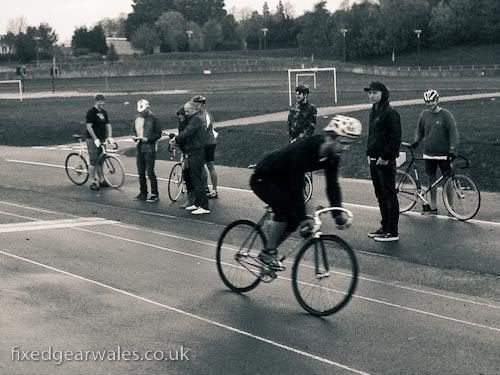
[[[458,130],[455,118],[450,111],[439,106],[439,93],[436,90],[424,92],[427,109],[418,119],[415,140],[412,147],[418,147],[424,140],[425,173],[429,178],[429,186],[437,180],[437,168],[441,174],[451,169],[450,159],[457,156]],[[431,202],[424,204],[422,214],[437,214],[437,190],[430,191]]]

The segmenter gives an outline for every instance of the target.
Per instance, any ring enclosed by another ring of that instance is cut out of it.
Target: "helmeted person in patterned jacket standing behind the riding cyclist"
[[[306,85],[299,85],[295,88],[295,98],[297,105],[290,109],[287,119],[290,142],[313,135],[318,113],[314,104],[309,102],[309,87]]]

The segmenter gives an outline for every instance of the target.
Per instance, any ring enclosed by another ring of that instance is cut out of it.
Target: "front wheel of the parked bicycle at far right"
[[[454,173],[443,185],[443,203],[458,220],[469,220],[479,211],[481,193],[471,177]]]

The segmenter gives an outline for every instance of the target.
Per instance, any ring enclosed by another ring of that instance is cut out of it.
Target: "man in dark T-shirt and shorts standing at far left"
[[[112,138],[112,128],[109,123],[108,113],[104,110],[106,101],[104,95],[95,96],[95,104],[87,111],[85,122],[87,124],[86,141],[90,161],[90,177],[92,183],[91,190],[99,190],[101,187],[109,185],[104,181],[102,167],[96,165],[102,153],[101,144],[104,142],[114,143]]]

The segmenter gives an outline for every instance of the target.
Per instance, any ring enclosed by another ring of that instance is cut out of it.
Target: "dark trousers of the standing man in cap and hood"
[[[376,163],[376,160],[370,160],[370,176],[382,215],[382,230],[398,234],[399,202],[396,193],[396,161],[390,160],[387,165]]]

